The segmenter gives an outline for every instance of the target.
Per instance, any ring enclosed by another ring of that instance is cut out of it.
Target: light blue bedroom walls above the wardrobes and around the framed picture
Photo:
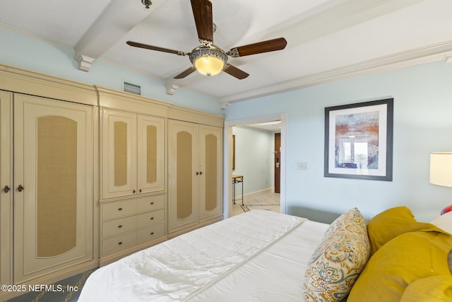
[[[343,212],[359,207],[367,218],[407,205],[429,221],[447,204],[452,189],[429,185],[429,153],[452,151],[452,64],[437,62],[358,79],[235,103],[220,110],[207,95],[179,88],[167,95],[161,79],[97,60],[78,71],[73,52],[0,28],[0,62],[65,79],[121,90],[124,80],[141,84],[143,95],[240,120],[287,113],[287,211],[299,207]],[[332,105],[394,98],[393,182],[323,178],[323,110]],[[308,170],[296,170],[297,161]]]

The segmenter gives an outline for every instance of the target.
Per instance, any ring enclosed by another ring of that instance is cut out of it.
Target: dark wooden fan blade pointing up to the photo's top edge
[[[212,3],[208,0],[191,0],[191,9],[195,18],[198,39],[201,44],[213,43]]]

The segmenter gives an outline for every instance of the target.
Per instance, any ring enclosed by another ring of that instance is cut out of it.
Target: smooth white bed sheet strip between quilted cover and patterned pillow
[[[304,272],[328,224],[305,221],[190,302],[305,301]]]

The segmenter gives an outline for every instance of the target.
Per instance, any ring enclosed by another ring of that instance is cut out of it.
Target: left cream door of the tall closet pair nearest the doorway
[[[198,223],[198,124],[168,121],[168,231]]]

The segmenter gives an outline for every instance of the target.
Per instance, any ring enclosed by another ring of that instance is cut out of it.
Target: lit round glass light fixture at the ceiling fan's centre
[[[215,45],[201,45],[190,53],[189,59],[201,74],[214,76],[225,68],[227,54]]]

